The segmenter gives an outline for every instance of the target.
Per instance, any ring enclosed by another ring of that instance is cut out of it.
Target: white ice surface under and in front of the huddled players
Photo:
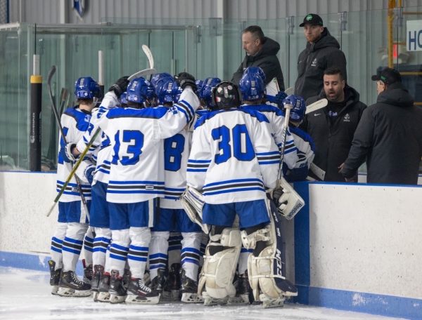
[[[179,303],[159,305],[110,305],[91,298],[51,295],[49,274],[0,267],[0,319],[259,319],[259,320],[361,320],[398,319],[322,307],[286,304],[262,309],[260,305],[204,307]]]

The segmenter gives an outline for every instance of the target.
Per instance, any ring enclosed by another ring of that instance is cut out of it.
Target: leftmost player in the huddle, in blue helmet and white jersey
[[[91,110],[94,108],[94,98],[99,98],[100,88],[96,81],[89,76],[77,79],[75,95],[79,105],[68,108],[61,116],[60,123],[67,142],[78,141],[89,126]],[[73,157],[68,157],[66,145],[60,136],[57,189],[65,183],[72,171]],[[84,160],[85,162],[85,160]],[[86,161],[84,169],[89,169],[90,161]],[[92,167],[92,164],[91,164]],[[80,178],[82,193],[87,200],[87,207],[81,201],[81,194],[75,178],[70,180],[58,203],[58,227],[51,241],[51,271],[52,293],[58,295],[90,295],[91,286],[79,281],[75,268],[79,254],[82,251],[84,235],[87,232],[87,215],[91,200],[91,185],[85,177],[86,170],[80,169],[77,175]],[[92,238],[90,236],[89,238]],[[92,241],[92,239],[90,239]]]

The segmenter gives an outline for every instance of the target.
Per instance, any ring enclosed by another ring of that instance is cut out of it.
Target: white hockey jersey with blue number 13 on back
[[[97,126],[113,146],[107,201],[129,204],[165,196],[164,139],[179,133],[198,106],[188,87],[171,108],[115,108],[101,116]]]

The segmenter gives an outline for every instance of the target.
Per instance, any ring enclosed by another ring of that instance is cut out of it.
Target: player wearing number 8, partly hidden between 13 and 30
[[[179,88],[174,79],[163,79],[155,86],[155,93],[160,105],[172,107],[173,102],[177,101]],[[166,289],[165,268],[170,232],[181,232],[181,288],[170,289],[177,294],[178,289],[181,289],[182,302],[198,301],[198,265],[202,239],[200,227],[188,218],[179,200],[186,189],[186,165],[190,146],[191,131],[188,126],[164,141],[165,197],[160,199],[160,211],[155,215],[149,253],[151,288],[162,293]],[[169,264],[168,267],[169,272],[179,269],[176,265]]]

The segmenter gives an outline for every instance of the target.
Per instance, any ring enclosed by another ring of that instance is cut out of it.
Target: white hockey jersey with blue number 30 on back
[[[269,120],[252,109],[209,112],[196,123],[187,184],[207,204],[265,199],[276,186],[280,153]]]

